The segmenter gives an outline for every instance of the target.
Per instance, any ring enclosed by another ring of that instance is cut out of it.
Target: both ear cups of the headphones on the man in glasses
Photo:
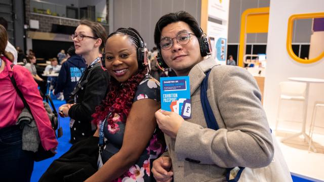
[[[211,46],[211,40],[208,36],[206,36],[206,33],[204,33],[203,29],[199,27],[201,36],[198,37],[199,42],[199,48],[200,48],[200,55],[201,57],[205,57],[212,54],[212,46]],[[157,55],[155,56],[155,60],[157,62],[158,67],[166,71],[169,69],[169,66],[166,64],[166,62],[163,60],[161,55],[161,50],[157,49]]]

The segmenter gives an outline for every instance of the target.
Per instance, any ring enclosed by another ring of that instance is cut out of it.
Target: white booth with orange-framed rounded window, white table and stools
[[[323,7],[323,1],[270,1],[264,85],[263,106],[269,124],[273,127],[276,120],[279,120],[278,130],[284,131],[284,134],[277,133],[277,139],[288,137],[280,143],[280,146],[291,172],[313,180],[324,179],[324,174],[320,169],[321,161],[324,159],[324,133],[321,130],[324,124],[324,110],[322,107],[314,107],[316,103],[324,102],[322,94],[324,90],[324,72],[322,71],[324,68],[324,29],[323,24],[317,22],[321,22],[324,17]],[[294,23],[306,19],[312,19],[312,25],[309,27],[312,33],[305,35],[310,38],[307,59],[298,57],[292,51],[291,43],[294,38],[292,33]],[[282,81],[304,83],[304,101],[299,101],[299,103],[293,100],[285,100],[286,103],[282,101],[281,109],[278,111],[279,98],[282,95],[279,83]],[[317,112],[313,112],[316,109]],[[285,119],[281,121],[280,118]],[[293,122],[287,120],[293,120]],[[311,122],[316,126],[316,132],[314,132],[316,135],[312,135],[312,144],[317,150],[316,153],[313,149],[308,150]]]

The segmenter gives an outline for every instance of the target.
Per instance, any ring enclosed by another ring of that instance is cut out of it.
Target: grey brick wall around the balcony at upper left
[[[108,10],[109,10],[109,0],[107,0],[107,22],[108,22]],[[68,26],[78,26],[79,20],[71,20],[65,19],[60,17],[50,17],[50,16],[43,16],[43,15],[35,15],[30,14],[30,0],[25,1],[26,5],[26,23],[29,24],[29,20],[38,20],[39,21],[39,32],[51,32],[52,24],[59,24],[59,25],[68,25]],[[106,31],[109,31],[109,26],[107,24],[102,24]]]

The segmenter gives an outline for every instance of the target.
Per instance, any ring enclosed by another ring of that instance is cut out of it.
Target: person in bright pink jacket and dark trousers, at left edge
[[[44,149],[56,153],[58,142],[31,74],[19,65],[11,68],[13,56],[5,51],[7,40],[7,31],[0,25],[0,179],[30,181],[34,164],[32,152],[22,150],[22,130],[16,125],[24,104],[10,80],[11,76],[14,76],[31,109]]]

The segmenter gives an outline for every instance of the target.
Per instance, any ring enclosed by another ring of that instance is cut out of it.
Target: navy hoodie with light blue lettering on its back
[[[86,67],[84,59],[77,55],[71,56],[65,61],[59,73],[55,94],[63,92],[64,99],[70,100],[71,93]]]

